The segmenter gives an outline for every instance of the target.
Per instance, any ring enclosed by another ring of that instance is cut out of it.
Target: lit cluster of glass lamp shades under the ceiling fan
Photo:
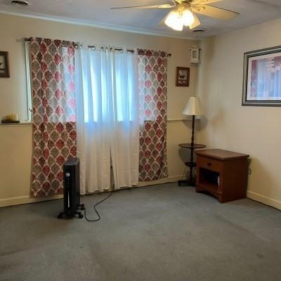
[[[165,20],[165,25],[173,30],[182,31],[183,26],[190,26],[195,18],[189,8],[183,10],[171,11]]]

